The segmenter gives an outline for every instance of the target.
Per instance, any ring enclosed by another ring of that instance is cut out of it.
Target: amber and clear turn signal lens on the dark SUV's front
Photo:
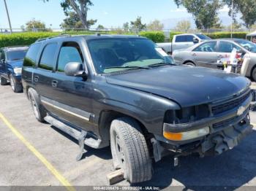
[[[187,141],[189,139],[195,139],[201,136],[206,136],[208,135],[208,133],[210,133],[210,129],[206,127],[206,128],[200,128],[197,130],[190,130],[190,131],[181,132],[181,133],[164,131],[164,137],[165,139],[168,139],[171,141]]]

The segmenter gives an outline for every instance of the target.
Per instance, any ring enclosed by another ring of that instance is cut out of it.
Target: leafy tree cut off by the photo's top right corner
[[[232,0],[222,0],[230,7],[231,15]],[[241,12],[241,20],[244,21],[246,28],[251,28],[256,23],[256,1],[255,0],[233,0],[233,9],[235,15]]]

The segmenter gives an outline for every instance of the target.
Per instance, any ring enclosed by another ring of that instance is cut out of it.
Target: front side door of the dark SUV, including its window
[[[51,97],[42,98],[51,112],[62,120],[70,122],[84,130],[94,130],[92,115],[92,84],[91,79],[69,77],[64,73],[65,66],[70,62],[83,63],[86,67],[80,42],[63,42],[61,44],[55,73],[50,77]]]

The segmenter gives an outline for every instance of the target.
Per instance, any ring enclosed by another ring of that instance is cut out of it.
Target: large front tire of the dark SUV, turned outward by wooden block
[[[124,179],[130,183],[151,179],[152,161],[138,122],[127,117],[113,120],[110,147],[114,168],[124,171]]]

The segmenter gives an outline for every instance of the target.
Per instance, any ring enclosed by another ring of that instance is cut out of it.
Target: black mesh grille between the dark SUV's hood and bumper
[[[211,108],[212,114],[220,114],[222,112],[227,112],[230,109],[235,108],[236,106],[239,106],[243,104],[244,101],[246,101],[247,98],[249,98],[250,92],[246,93],[245,95],[241,96],[240,98],[233,99],[232,101],[227,101],[224,104],[219,104],[217,106],[213,106]]]

